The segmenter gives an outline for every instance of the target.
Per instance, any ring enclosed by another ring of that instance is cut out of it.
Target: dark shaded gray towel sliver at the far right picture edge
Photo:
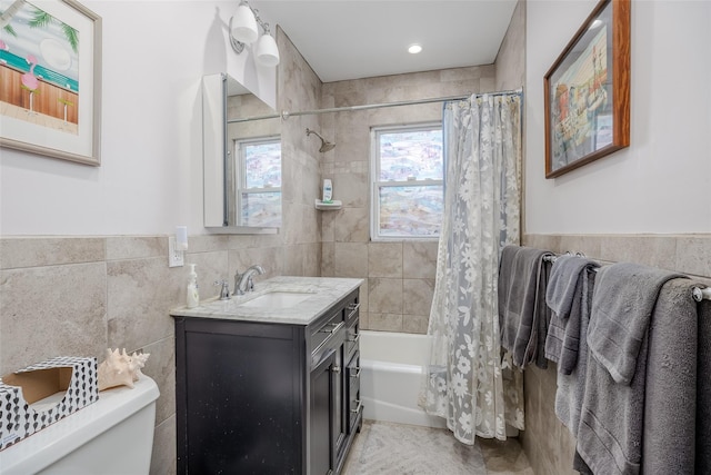
[[[697,353],[697,453],[695,473],[711,473],[711,300],[698,304],[699,352]]]

